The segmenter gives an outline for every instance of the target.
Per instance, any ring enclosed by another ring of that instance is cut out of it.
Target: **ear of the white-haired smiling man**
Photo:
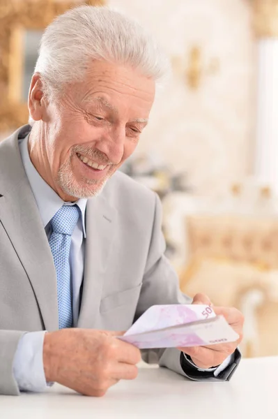
[[[40,73],[33,74],[29,96],[28,96],[28,108],[29,114],[34,121],[40,121],[43,117],[43,83],[40,79]]]

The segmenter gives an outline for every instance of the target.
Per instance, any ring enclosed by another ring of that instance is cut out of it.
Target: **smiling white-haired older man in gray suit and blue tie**
[[[145,31],[108,8],[72,9],[46,29],[30,125],[0,145],[1,394],[57,382],[104,395],[135,378],[141,359],[117,331],[153,304],[192,302],[164,256],[157,196],[116,172],[166,71]],[[241,339],[240,312],[215,311]],[[239,341],[142,353],[187,378],[225,381]]]

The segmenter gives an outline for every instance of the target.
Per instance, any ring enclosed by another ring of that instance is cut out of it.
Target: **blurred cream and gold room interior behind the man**
[[[123,171],[160,195],[180,288],[245,314],[243,355],[277,355],[278,0],[0,0],[0,140],[28,121],[43,29],[79,3],[135,17],[168,54]]]

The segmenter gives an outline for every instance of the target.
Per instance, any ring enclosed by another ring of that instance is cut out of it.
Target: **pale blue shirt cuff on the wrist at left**
[[[52,383],[45,380],[43,341],[45,332],[25,333],[13,360],[13,374],[21,391],[42,392]]]

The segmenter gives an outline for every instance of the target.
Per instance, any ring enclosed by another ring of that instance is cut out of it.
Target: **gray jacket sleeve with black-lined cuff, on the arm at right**
[[[165,249],[166,244],[162,234],[162,207],[159,198],[155,195],[153,231],[134,320],[155,304],[191,304],[192,302],[191,297],[180,291],[178,276],[164,256]],[[194,381],[229,381],[240,361],[240,353],[238,350],[235,351],[233,362],[218,376],[215,376],[213,372],[199,371],[191,362],[187,362],[183,353],[176,348],[143,350],[142,358],[148,363],[158,363],[160,367],[172,369]]]

